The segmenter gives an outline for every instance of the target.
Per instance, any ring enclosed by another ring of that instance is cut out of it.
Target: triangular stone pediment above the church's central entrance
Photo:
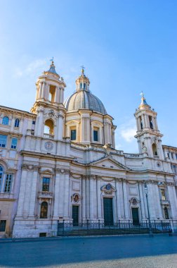
[[[128,167],[124,166],[120,162],[117,162],[117,160],[112,159],[111,157],[105,157],[103,159],[96,160],[94,162],[91,162],[89,164],[90,166],[99,166],[102,168],[107,169],[119,169],[119,170],[129,170]]]

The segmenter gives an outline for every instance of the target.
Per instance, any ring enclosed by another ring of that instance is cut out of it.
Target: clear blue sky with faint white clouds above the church
[[[80,66],[117,125],[117,149],[138,152],[133,116],[143,90],[163,144],[176,146],[176,0],[0,1],[0,104],[29,111],[54,57],[67,88]]]

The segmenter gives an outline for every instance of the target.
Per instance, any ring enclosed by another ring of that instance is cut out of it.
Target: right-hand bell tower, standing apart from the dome
[[[162,134],[157,125],[157,112],[147,104],[143,92],[141,103],[134,114],[136,117],[136,136],[140,154],[145,153],[148,157],[164,159],[162,150]]]

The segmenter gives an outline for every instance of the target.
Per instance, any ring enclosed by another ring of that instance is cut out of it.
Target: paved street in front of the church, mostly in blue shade
[[[177,236],[54,238],[0,243],[0,267],[177,267]]]

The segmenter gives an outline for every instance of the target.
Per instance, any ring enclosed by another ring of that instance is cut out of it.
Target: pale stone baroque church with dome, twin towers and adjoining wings
[[[52,236],[59,220],[177,220],[177,148],[162,145],[143,95],[130,154],[115,149],[113,118],[83,68],[65,102],[53,61],[36,87],[31,112],[0,106],[0,237]]]

